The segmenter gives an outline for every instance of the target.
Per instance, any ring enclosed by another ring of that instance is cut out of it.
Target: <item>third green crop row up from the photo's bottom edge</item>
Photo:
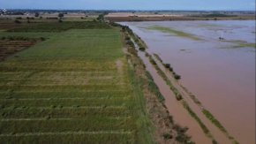
[[[125,107],[106,107],[104,105],[99,107],[60,107],[58,105],[52,107],[34,107],[34,108],[12,108],[2,109],[1,118],[38,118],[38,117],[52,117],[52,118],[81,118],[89,116],[102,117],[127,117],[131,116],[131,110]],[[94,121],[92,121],[93,123]]]

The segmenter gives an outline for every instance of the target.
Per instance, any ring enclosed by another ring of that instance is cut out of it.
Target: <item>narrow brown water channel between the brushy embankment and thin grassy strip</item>
[[[136,47],[138,48],[137,45]],[[183,127],[189,127],[187,134],[192,136],[192,141],[196,143],[210,144],[211,140],[205,133],[202,132],[200,125],[198,125],[198,123],[189,116],[187,111],[184,110],[182,104],[177,102],[175,95],[169,89],[169,86],[166,84],[166,82],[162,80],[161,76],[154,69],[154,66],[149,62],[148,57],[145,56],[145,53],[139,51],[139,57],[146,65],[147,71],[150,72],[155,84],[159,87],[161,94],[164,96],[165,105],[171,116],[174,118],[175,123]]]

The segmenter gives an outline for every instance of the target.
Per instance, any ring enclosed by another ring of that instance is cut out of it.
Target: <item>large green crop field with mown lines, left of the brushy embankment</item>
[[[153,142],[120,30],[100,26],[0,32],[48,38],[0,63],[0,143]]]

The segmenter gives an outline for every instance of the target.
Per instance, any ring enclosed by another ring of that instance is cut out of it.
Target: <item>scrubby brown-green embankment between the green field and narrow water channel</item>
[[[117,25],[118,27],[122,27]],[[146,71],[146,66],[138,56],[138,50],[132,42],[133,38],[139,39],[133,34],[129,27],[122,27],[124,37],[128,47],[128,61],[134,66],[133,70],[139,77],[139,85],[144,90],[144,97],[147,101],[147,110],[154,125],[154,136],[157,143],[187,143],[192,144],[191,138],[186,135],[187,128],[177,125],[169,115],[167,107],[164,105],[164,97],[159,88],[155,85],[153,77]],[[131,39],[131,37],[132,39]],[[135,40],[136,41],[136,40]],[[139,42],[137,40],[136,42]],[[142,49],[140,49],[142,50]],[[144,50],[142,50],[144,51]],[[157,100],[158,99],[158,100]],[[175,138],[175,139],[174,139]]]

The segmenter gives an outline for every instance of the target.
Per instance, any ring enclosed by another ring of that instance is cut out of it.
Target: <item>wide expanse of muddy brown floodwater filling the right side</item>
[[[255,22],[129,22],[148,50],[171,64],[181,83],[219,119],[240,143],[255,143],[255,49],[234,48],[237,40],[255,43]],[[193,41],[147,27],[171,27],[195,34]],[[223,36],[230,42],[220,42]]]

